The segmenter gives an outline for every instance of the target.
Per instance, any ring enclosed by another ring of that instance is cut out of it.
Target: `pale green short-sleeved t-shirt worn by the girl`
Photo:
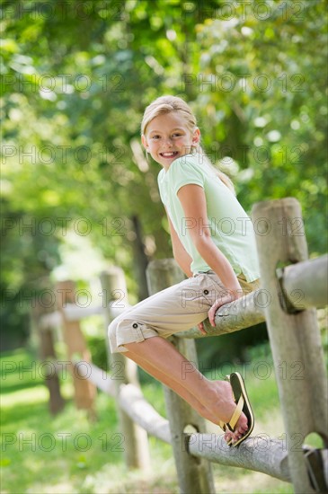
[[[191,271],[196,273],[211,269],[191,241],[189,229],[195,224],[195,219],[185,217],[177,196],[183,185],[194,183],[205,192],[213,242],[225,254],[237,276],[244,273],[247,281],[254,281],[260,278],[260,271],[251,218],[216,173],[201,163],[202,159],[201,154],[185,154],[174,160],[167,172],[163,168],[158,173],[162,202],[185,250],[191,256]],[[202,225],[199,218],[196,219],[201,234]]]

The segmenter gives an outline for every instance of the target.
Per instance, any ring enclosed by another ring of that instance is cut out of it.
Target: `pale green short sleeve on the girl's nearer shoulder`
[[[204,188],[204,177],[194,159],[182,156],[170,166],[170,182],[176,195],[183,185],[196,184]]]

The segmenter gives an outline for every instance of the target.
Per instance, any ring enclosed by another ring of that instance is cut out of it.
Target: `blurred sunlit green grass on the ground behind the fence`
[[[264,348],[265,350],[265,348]],[[257,350],[252,365],[235,366],[245,377],[256,417],[254,434],[283,434],[274,369],[266,351]],[[179,492],[170,445],[150,437],[152,468],[127,471],[124,437],[120,434],[115,402],[98,393],[98,419],[90,421],[84,410],[75,410],[72,383],[61,383],[66,407],[56,417],[48,410],[48,390],[42,383],[38,362],[26,350],[1,355],[3,494],[50,493],[162,493]],[[30,368],[30,370],[28,370]],[[232,369],[234,370],[234,369]],[[223,378],[231,369],[208,369],[209,378]],[[160,384],[140,374],[143,392],[165,416]],[[209,431],[217,427],[209,425]],[[258,472],[212,464],[217,492],[291,493],[290,484]]]

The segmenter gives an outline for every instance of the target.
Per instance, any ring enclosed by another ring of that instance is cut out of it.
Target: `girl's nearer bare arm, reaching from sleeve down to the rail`
[[[239,298],[243,295],[243,291],[235,276],[235,271],[211,238],[203,188],[196,184],[183,185],[178,190],[178,198],[182,203],[186,219],[192,219],[191,227],[188,228],[192,242],[203,260],[217,273],[218,278],[229,291],[227,296],[221,297],[223,304]]]

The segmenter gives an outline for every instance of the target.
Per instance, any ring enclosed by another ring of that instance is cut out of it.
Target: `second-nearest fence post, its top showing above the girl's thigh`
[[[184,278],[182,270],[173,259],[150,262],[146,274],[150,295],[179,283]],[[194,340],[172,338],[171,341],[195,366],[198,365]],[[211,464],[203,458],[191,456],[185,442],[188,437],[188,433],[184,432],[185,428],[192,426],[193,430],[204,433],[206,432],[205,420],[199,417],[186,401],[166,386],[164,386],[164,393],[180,490],[187,494],[214,493]]]

